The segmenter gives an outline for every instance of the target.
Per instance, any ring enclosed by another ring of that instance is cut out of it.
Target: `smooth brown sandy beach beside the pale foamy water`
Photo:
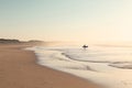
[[[0,88],[99,88],[79,77],[36,64],[26,45],[0,45]]]

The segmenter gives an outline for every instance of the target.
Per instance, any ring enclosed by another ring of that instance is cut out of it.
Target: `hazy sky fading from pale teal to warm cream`
[[[0,37],[132,41],[132,0],[0,0]]]

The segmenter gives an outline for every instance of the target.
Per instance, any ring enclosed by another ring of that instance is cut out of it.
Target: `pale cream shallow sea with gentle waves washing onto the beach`
[[[132,88],[132,46],[34,46],[37,64],[107,88]]]

